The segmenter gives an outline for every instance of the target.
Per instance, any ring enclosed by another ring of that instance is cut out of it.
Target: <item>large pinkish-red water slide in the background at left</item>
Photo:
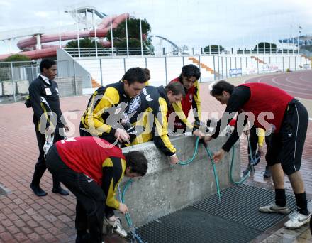
[[[129,18],[128,13],[123,13],[119,16],[112,16],[112,17],[105,17],[99,24],[99,26],[96,28],[96,31],[94,30],[88,30],[88,31],[79,31],[79,38],[87,38],[87,37],[94,37],[96,33],[96,37],[103,38],[107,35],[108,31],[111,29],[111,23],[112,28],[117,28],[117,26],[125,21],[126,18]],[[67,33],[61,33],[59,34],[43,34],[40,36],[40,43],[50,43],[54,41],[68,41],[68,40],[77,40],[77,31],[71,31]],[[111,43],[108,41],[102,42],[103,45],[110,46]],[[17,46],[20,49],[24,48],[33,48],[37,45],[37,38],[36,36],[32,36],[29,38],[25,38],[21,41],[18,41]],[[29,50],[29,51],[23,51],[21,53],[14,53],[14,54],[21,54],[26,55],[30,59],[39,59],[39,58],[46,58],[50,56],[56,55],[56,50],[60,48],[59,45],[42,45],[42,49],[38,50]],[[0,60],[3,60],[13,54],[5,54],[0,55]]]

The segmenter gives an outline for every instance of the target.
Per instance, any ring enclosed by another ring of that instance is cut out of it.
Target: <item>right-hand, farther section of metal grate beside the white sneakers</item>
[[[275,194],[272,190],[241,185],[240,187],[226,188],[222,190],[221,195],[221,203],[218,202],[216,195],[212,195],[195,203],[192,207],[262,231],[272,227],[285,217],[285,215],[267,214],[258,211],[260,206],[274,201]],[[291,211],[295,210],[296,200],[294,196],[286,195],[286,198],[289,209]]]

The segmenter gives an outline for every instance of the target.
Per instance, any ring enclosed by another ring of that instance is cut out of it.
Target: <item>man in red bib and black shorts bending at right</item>
[[[224,126],[231,120],[230,117],[238,112],[237,120],[244,121],[243,124],[242,122],[235,124],[235,129],[228,141],[220,151],[213,155],[213,159],[220,161],[225,152],[230,151],[239,139],[247,120],[250,120],[251,124],[254,123],[256,127],[264,129],[266,136],[272,131],[266,160],[272,171],[275,201],[270,205],[260,207],[259,210],[285,215],[289,213],[284,189],[284,173],[286,173],[296,197],[297,212],[291,220],[285,222],[284,226],[297,229],[308,223],[311,213],[308,212],[306,192],[299,172],[308,127],[308,112],[303,104],[284,90],[264,83],[247,83],[234,87],[221,80],[213,85],[211,95],[221,104],[226,104],[226,109],[222,119],[217,123],[215,134],[210,139],[216,139],[222,131],[221,120]]]

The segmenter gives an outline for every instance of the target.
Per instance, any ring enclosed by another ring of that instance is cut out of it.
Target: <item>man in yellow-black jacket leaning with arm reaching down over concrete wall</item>
[[[133,126],[143,126],[144,132],[131,141],[130,145],[154,140],[157,148],[170,157],[170,162],[177,163],[179,159],[176,148],[168,137],[167,112],[168,107],[181,101],[183,95],[183,85],[173,82],[166,87],[146,86],[140,95],[134,97],[126,108],[126,120]]]

